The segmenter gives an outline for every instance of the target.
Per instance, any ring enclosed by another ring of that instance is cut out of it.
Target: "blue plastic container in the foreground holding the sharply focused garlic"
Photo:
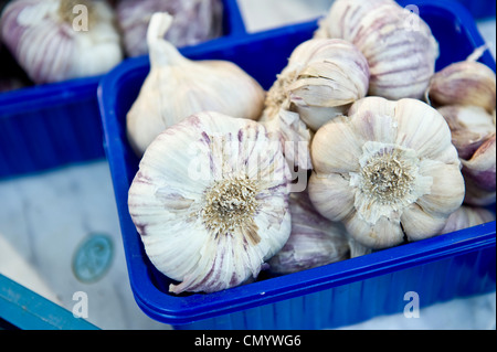
[[[459,4],[409,1],[413,2],[441,44],[437,70],[484,44],[472,15]],[[313,21],[182,53],[233,61],[268,88],[293,49],[316,26]],[[495,71],[489,54],[482,62]],[[171,280],[148,260],[127,207],[139,160],[127,142],[125,120],[148,72],[147,57],[123,63],[103,78],[98,99],[130,285],[137,303],[151,318],[177,329],[337,328],[402,312],[409,291],[417,292],[425,307],[496,289],[496,223],[491,222],[219,292],[168,294]]]

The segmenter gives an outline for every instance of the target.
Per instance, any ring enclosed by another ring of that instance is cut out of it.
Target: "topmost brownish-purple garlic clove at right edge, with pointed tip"
[[[425,98],[434,106],[473,105],[491,114],[496,102],[495,73],[472,60],[453,63],[433,75]]]

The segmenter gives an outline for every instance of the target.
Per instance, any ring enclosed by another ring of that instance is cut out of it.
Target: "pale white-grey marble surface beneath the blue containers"
[[[239,1],[250,31],[310,20],[331,3]],[[495,55],[495,20],[479,28]],[[71,263],[93,233],[112,237],[114,258],[101,280],[83,284]],[[68,310],[75,305],[73,294],[86,292],[87,319],[102,329],[170,329],[142,313],[133,298],[106,161],[0,181],[0,273]],[[378,317],[342,329],[496,329],[495,302],[493,292],[422,309],[415,319]]]

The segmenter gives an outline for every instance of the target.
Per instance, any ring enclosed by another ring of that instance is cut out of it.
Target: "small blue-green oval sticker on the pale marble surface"
[[[92,234],[80,245],[73,257],[74,276],[82,282],[99,280],[113,260],[113,242],[109,236]]]

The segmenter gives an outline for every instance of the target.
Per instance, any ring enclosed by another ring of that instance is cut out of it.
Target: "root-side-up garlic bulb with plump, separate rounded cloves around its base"
[[[463,202],[451,130],[416,99],[362,98],[316,132],[310,152],[313,204],[369,248],[434,236]]]

